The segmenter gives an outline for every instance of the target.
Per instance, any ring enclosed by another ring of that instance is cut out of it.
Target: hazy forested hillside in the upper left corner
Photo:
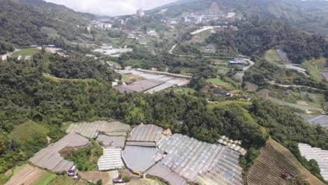
[[[74,40],[93,18],[44,1],[22,2],[0,1],[0,40],[19,46],[50,44],[57,36]]]

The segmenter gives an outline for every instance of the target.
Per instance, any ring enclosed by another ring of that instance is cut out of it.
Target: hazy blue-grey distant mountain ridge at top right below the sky
[[[258,14],[271,18],[280,18],[293,24],[299,29],[312,34],[328,33],[328,2],[327,1],[301,1],[301,0],[194,0],[177,1],[149,13],[167,8],[163,16],[177,17],[185,12],[202,12],[217,2],[221,13],[233,11],[240,13],[244,18]]]

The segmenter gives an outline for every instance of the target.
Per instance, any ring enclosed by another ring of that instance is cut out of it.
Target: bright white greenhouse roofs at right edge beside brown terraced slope
[[[307,160],[315,159],[320,167],[320,174],[324,180],[328,181],[328,151],[313,148],[308,144],[299,144],[299,151],[301,155]]]

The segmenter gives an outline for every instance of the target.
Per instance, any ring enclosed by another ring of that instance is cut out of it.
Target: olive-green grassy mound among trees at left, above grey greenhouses
[[[31,138],[34,133],[42,133],[47,135],[48,132],[49,130],[46,126],[33,121],[28,121],[27,123],[16,125],[9,137],[16,142],[24,143],[27,139]]]

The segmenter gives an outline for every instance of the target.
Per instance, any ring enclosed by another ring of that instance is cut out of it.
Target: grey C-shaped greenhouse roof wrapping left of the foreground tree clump
[[[52,170],[53,172],[67,171],[73,166],[73,163],[64,160],[58,152],[65,147],[78,148],[88,144],[89,140],[85,137],[71,133],[60,139],[58,142],[41,149],[41,151],[35,153],[32,158],[29,158],[29,161],[34,165]]]

